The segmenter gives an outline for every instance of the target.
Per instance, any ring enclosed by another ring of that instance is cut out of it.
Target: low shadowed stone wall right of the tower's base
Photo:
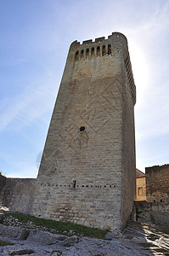
[[[135,201],[133,220],[169,226],[169,205],[160,202]]]

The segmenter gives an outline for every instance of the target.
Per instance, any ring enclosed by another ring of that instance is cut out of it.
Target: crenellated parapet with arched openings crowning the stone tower
[[[113,32],[107,39],[104,37],[85,40],[80,42],[74,41],[70,45],[70,59],[75,62],[86,60],[93,61],[97,58],[106,58],[116,54],[123,56],[124,67],[127,72],[128,84],[132,94],[133,105],[136,103],[136,86],[132,75],[132,65],[128,52],[127,38],[120,32]]]

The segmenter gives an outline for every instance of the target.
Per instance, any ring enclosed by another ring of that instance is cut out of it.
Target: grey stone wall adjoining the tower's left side
[[[35,178],[11,178],[0,175],[0,204],[12,211],[29,213]]]

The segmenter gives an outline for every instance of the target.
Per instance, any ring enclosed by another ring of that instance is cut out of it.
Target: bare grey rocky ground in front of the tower
[[[0,207],[0,241],[11,245],[0,246],[0,255],[36,256],[141,256],[169,255],[169,233],[166,227],[129,222],[122,233],[109,232],[104,239],[76,236],[70,230],[65,235],[48,232],[31,222],[20,223]],[[166,233],[164,233],[164,230]]]

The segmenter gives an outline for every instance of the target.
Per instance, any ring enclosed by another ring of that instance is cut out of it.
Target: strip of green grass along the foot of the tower
[[[26,223],[27,221],[31,221],[33,224],[38,226],[46,227],[48,230],[54,229],[59,232],[59,234],[65,234],[66,230],[68,233],[70,230],[73,230],[76,235],[89,236],[95,238],[104,238],[109,230],[99,230],[95,228],[89,228],[79,224],[71,224],[65,222],[55,221],[53,219],[45,219],[45,218],[37,218],[31,215],[13,213],[10,214],[14,218],[17,218],[21,223]]]

